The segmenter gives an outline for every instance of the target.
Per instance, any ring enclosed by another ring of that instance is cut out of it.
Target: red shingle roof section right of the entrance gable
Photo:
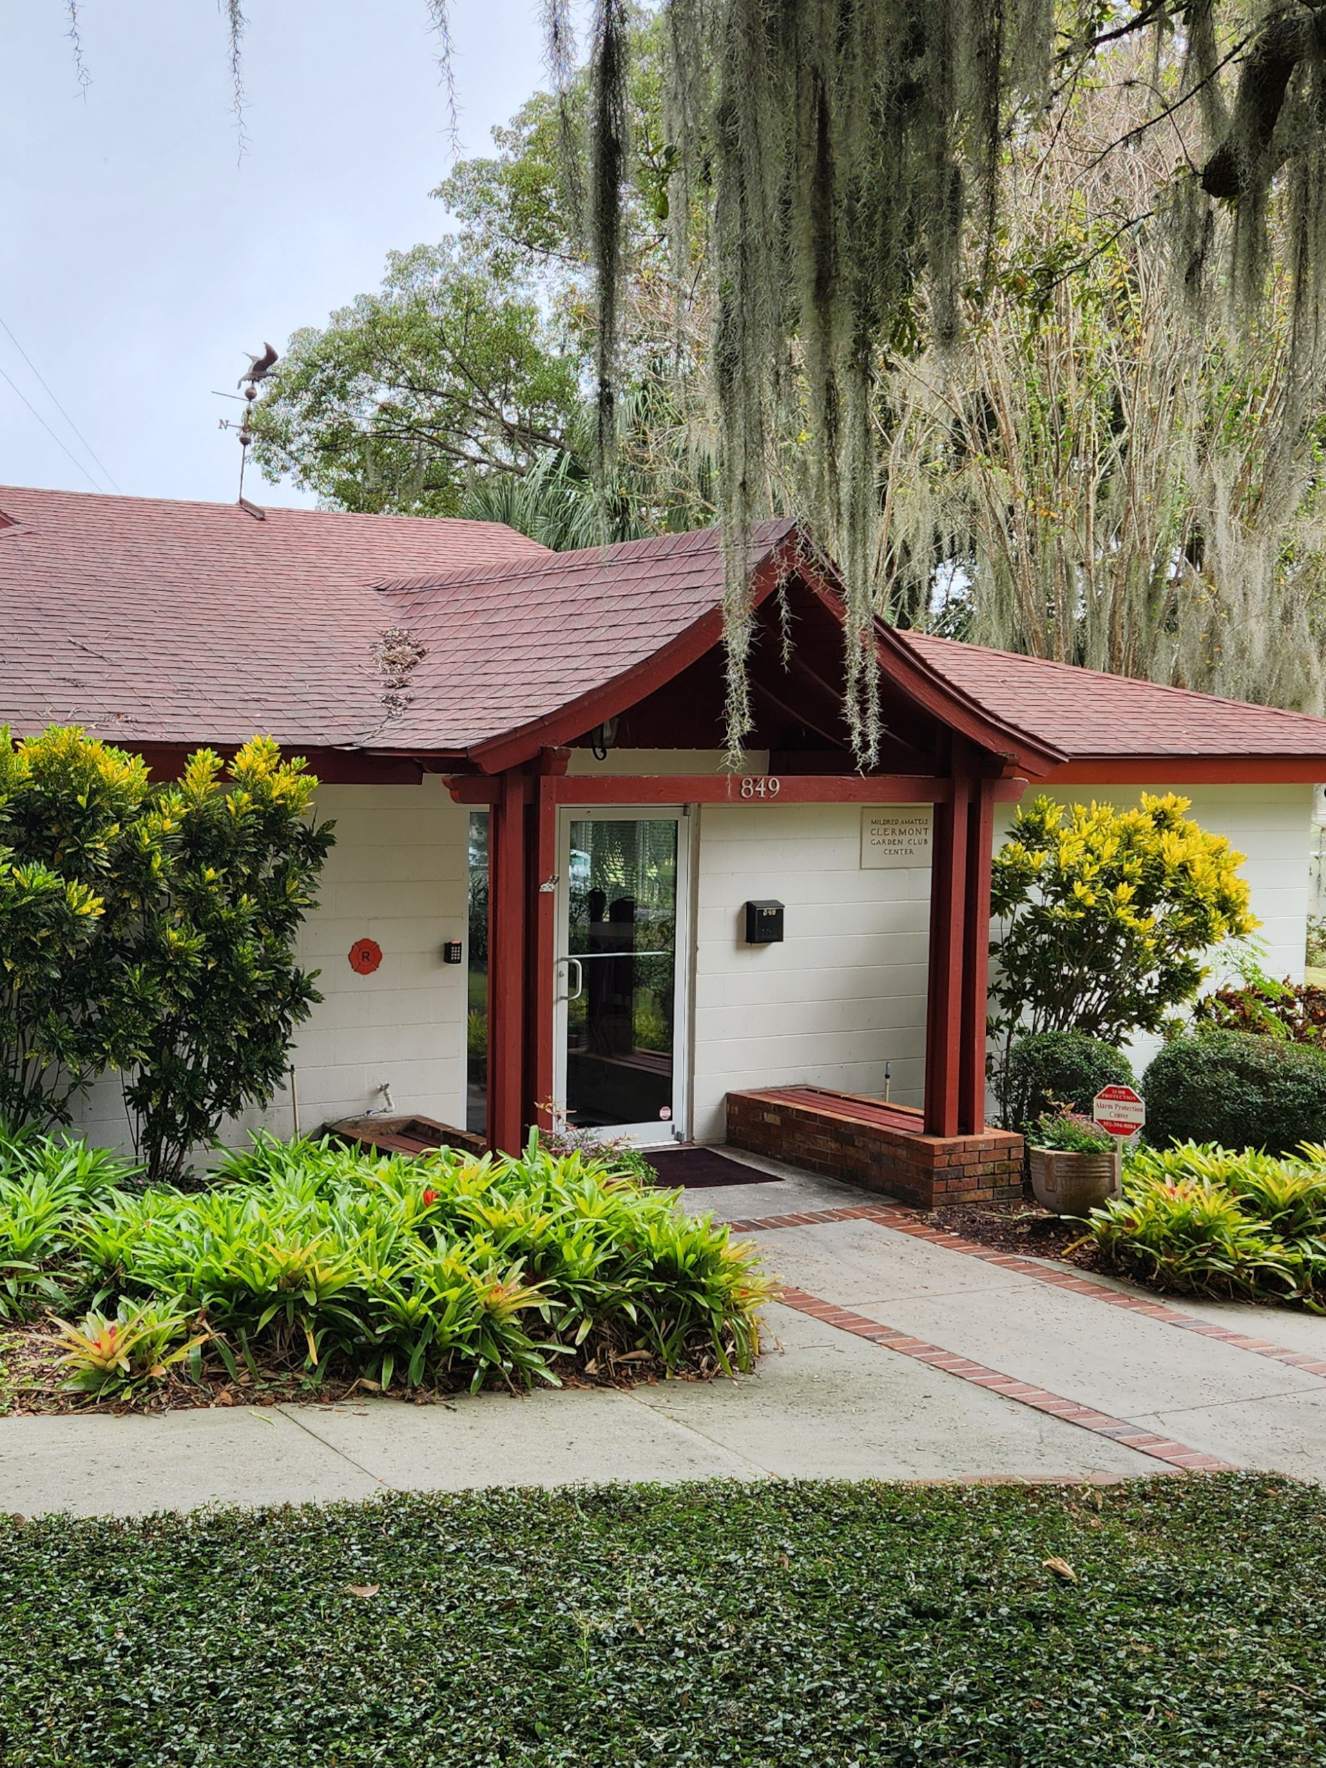
[[[898,633],[944,681],[994,718],[1071,760],[1121,757],[1322,757],[1326,720],[1218,700],[1071,663]]]

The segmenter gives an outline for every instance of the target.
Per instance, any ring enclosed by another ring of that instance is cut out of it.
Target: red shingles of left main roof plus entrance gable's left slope
[[[126,743],[463,750],[711,613],[714,530],[550,553],[500,523],[0,488],[0,720]],[[789,522],[753,536],[753,557]],[[389,713],[375,647],[424,656]]]

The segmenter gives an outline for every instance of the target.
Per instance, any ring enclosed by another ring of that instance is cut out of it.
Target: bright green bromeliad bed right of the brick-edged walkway
[[[1139,1149],[1091,1213],[1103,1261],[1188,1294],[1326,1314],[1326,1147],[1296,1158],[1185,1142]]]

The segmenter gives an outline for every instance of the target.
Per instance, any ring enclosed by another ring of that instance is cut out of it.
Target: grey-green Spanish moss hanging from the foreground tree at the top
[[[1322,362],[1326,14],[1315,5],[665,0],[663,11],[677,274],[681,253],[693,249],[695,193],[711,202],[711,378],[734,753],[750,728],[746,536],[753,522],[783,509],[804,516],[842,560],[849,716],[859,760],[873,758],[875,670],[865,665],[872,622],[891,594],[888,560],[896,560],[884,534],[902,499],[889,479],[889,460],[896,469],[898,458],[896,375],[926,362],[930,384],[942,387],[962,359],[995,283],[1010,156],[1091,87],[1101,57],[1119,44],[1144,51],[1149,67],[1130,72],[1146,108],[1112,150],[1155,134],[1169,156],[1165,187],[1140,210],[1158,212],[1158,237],[1165,230],[1153,251],[1153,260],[1165,258],[1176,295],[1165,325],[1199,313],[1202,348],[1216,347],[1213,316],[1232,338],[1255,341],[1268,301],[1280,302],[1285,373],[1275,370],[1266,410],[1278,414],[1289,440],[1269,449],[1257,500],[1264,509],[1294,504],[1298,493],[1285,502],[1273,481],[1280,472],[1284,486],[1299,483],[1299,440]],[[591,235],[605,447],[621,263],[613,205],[621,214],[624,189],[624,19],[622,0],[599,0]],[[1275,437],[1266,430],[1262,440]],[[1192,454],[1185,460],[1185,483],[1206,486],[1209,548],[1229,474],[1209,451],[1200,469]],[[1229,479],[1238,506],[1245,493],[1236,495],[1234,483],[1243,483],[1238,472]],[[1232,507],[1232,527],[1246,530],[1245,514],[1246,499],[1243,513]],[[1262,530],[1268,557],[1273,529]]]

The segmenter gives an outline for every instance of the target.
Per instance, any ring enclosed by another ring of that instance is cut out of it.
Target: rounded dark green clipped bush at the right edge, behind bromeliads
[[[1326,1140],[1326,1052],[1246,1031],[1167,1043],[1146,1071],[1146,1139],[1284,1155]]]

